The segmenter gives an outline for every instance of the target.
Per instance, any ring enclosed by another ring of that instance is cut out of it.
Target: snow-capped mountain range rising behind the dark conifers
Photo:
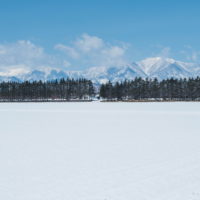
[[[200,76],[200,65],[185,63],[171,58],[147,58],[137,63],[125,66],[92,67],[83,71],[63,70],[33,70],[16,76],[0,76],[0,81],[24,81],[24,80],[55,80],[61,78],[87,78],[94,83],[107,81],[131,80],[135,77],[158,78],[189,78]]]

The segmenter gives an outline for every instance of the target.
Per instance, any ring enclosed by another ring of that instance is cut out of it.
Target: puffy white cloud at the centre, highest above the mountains
[[[127,47],[125,44],[112,45],[97,36],[83,34],[71,45],[57,44],[55,49],[64,52],[80,65],[91,67],[125,64]]]

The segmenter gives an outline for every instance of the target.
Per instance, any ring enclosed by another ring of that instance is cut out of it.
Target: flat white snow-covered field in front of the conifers
[[[199,200],[200,103],[0,104],[1,200]]]

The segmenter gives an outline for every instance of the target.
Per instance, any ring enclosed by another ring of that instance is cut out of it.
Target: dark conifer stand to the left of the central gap
[[[1,101],[89,100],[93,95],[94,86],[86,79],[0,83]]]

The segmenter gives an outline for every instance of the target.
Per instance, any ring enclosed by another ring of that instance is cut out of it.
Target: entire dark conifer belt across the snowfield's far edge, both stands
[[[200,78],[135,78],[94,85],[87,79],[1,82],[0,101],[199,101]]]

